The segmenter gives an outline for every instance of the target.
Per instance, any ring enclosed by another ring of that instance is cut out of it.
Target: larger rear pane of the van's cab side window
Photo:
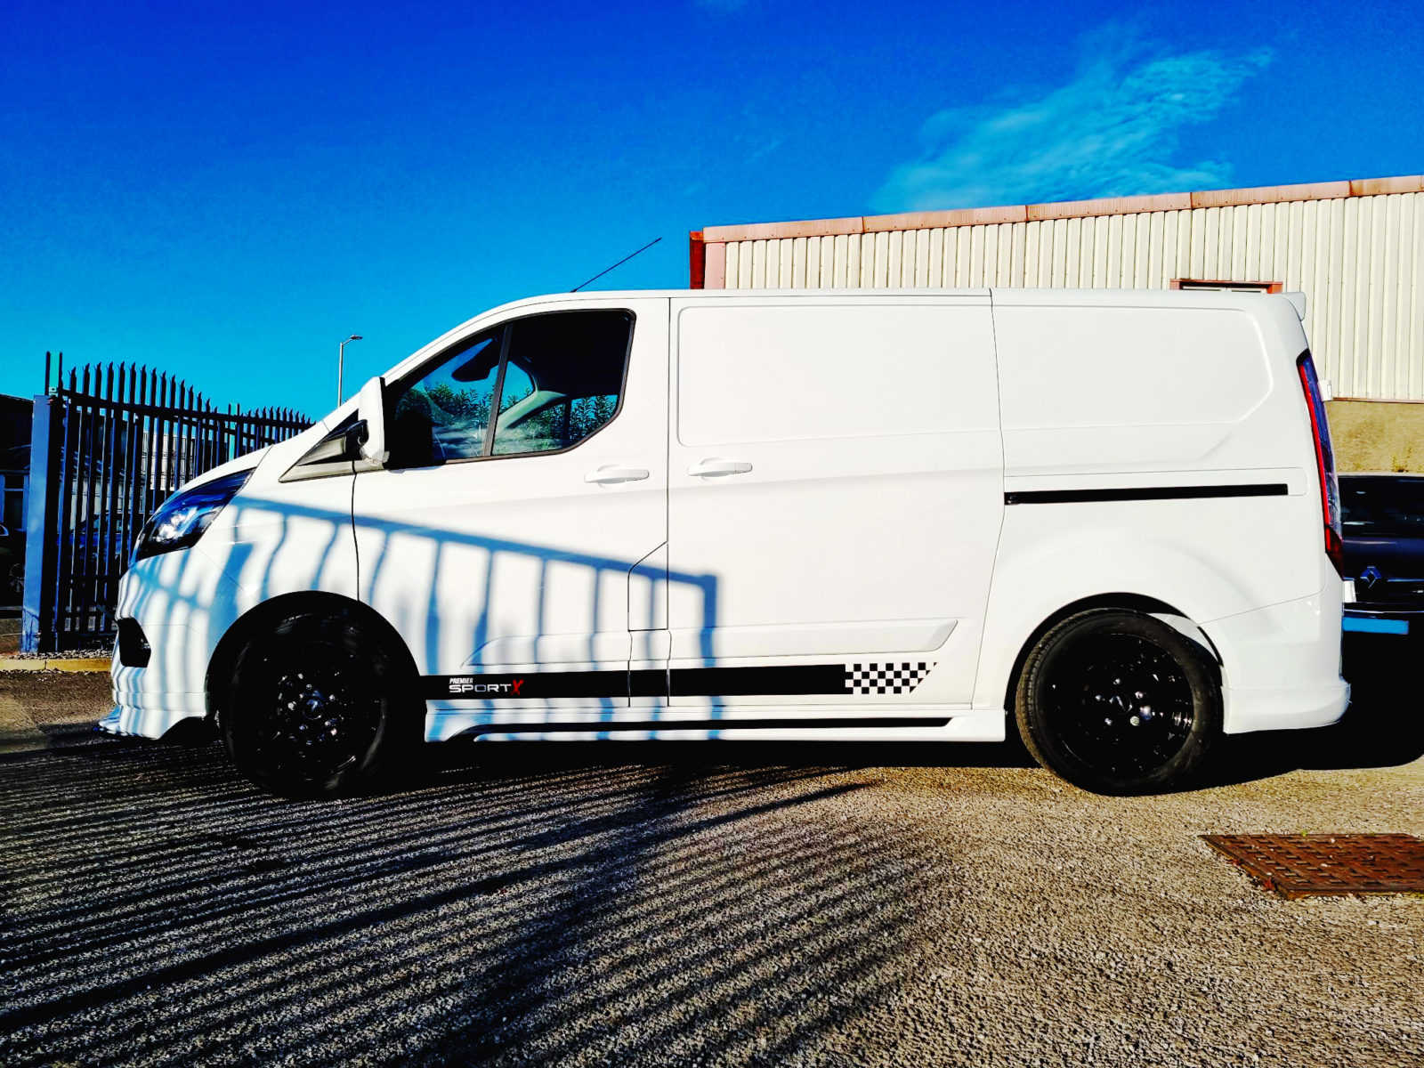
[[[510,326],[494,456],[550,453],[614,417],[628,366],[632,315],[591,309]]]

